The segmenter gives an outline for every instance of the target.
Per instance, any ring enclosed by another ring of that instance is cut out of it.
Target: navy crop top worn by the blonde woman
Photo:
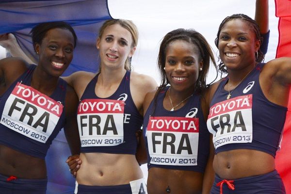
[[[81,152],[135,155],[135,132],[141,129],[143,117],[130,94],[130,71],[111,97],[97,97],[97,78],[98,74],[87,85],[78,107]]]

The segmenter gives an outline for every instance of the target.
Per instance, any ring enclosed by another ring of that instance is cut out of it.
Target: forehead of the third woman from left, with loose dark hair
[[[198,47],[186,40],[174,40],[166,48],[166,55],[171,55],[175,52],[179,52],[182,55],[198,55]]]

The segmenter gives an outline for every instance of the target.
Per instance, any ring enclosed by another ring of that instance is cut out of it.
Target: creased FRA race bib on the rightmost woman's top
[[[207,127],[213,134],[214,147],[232,143],[251,143],[253,95],[234,97],[210,108]]]

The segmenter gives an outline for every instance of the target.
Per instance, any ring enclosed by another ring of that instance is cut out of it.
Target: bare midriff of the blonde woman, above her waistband
[[[129,184],[143,178],[143,172],[131,154],[81,153],[77,182],[90,186]]]

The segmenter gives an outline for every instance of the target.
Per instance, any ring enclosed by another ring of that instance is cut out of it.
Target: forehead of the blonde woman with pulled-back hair
[[[113,35],[114,37],[124,38],[127,41],[130,41],[132,39],[131,33],[127,29],[120,26],[119,24],[113,24],[106,27],[103,32],[103,36],[107,35]]]

